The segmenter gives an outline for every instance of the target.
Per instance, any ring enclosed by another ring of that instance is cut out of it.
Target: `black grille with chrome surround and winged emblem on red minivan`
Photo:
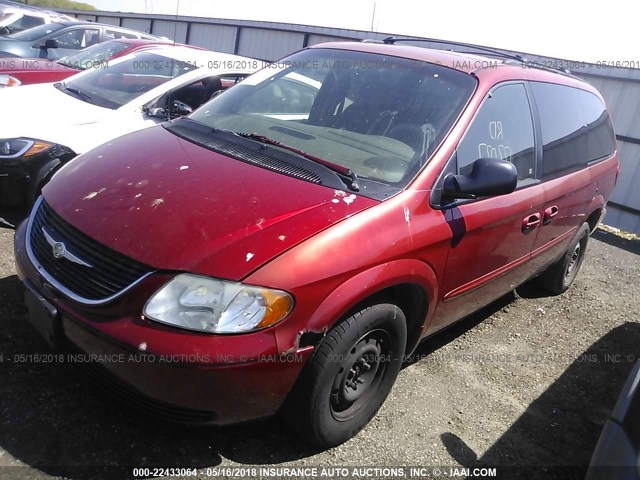
[[[28,242],[40,273],[83,303],[111,300],[153,271],[69,225],[42,197],[29,220]]]

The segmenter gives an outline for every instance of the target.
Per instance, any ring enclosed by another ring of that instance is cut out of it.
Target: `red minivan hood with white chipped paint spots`
[[[43,194],[67,222],[130,258],[231,280],[378,203],[228,158],[161,126],[78,157]]]

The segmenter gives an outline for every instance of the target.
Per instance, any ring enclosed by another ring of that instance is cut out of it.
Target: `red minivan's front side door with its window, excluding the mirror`
[[[487,305],[530,276],[528,260],[544,191],[537,180],[533,116],[523,83],[504,84],[487,95],[451,160],[455,165],[448,168],[468,174],[475,160],[486,157],[513,163],[518,185],[508,195],[443,207],[452,237],[429,332]]]

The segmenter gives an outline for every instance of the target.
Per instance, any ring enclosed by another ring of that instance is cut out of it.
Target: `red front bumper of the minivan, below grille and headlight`
[[[243,335],[198,334],[149,322],[139,314],[115,314],[118,306],[106,316],[92,317],[90,310],[58,295],[37,273],[25,250],[25,227],[21,225],[15,236],[17,272],[25,286],[54,307],[53,321],[58,324],[51,329],[51,343],[102,387],[148,413],[208,424],[271,416],[311,356],[311,347],[279,355],[269,329]],[[147,294],[141,285],[127,296]],[[31,311],[29,317],[34,323]]]

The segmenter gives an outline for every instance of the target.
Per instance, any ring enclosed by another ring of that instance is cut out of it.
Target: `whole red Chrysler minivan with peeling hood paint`
[[[15,237],[33,325],[146,411],[279,412],[331,446],[420,340],[566,290],[619,171],[598,92],[386,43],[307,48],[64,166]]]

